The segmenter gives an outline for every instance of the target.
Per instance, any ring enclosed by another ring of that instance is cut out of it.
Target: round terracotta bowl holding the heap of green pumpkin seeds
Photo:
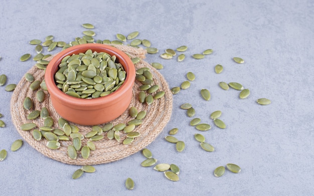
[[[126,78],[115,92],[104,97],[82,99],[69,96],[56,86],[54,75],[61,60],[67,55],[85,53],[88,49],[115,55],[116,62],[123,66]],[[81,125],[103,124],[119,117],[131,102],[134,79],[135,68],[130,58],[124,52],[103,44],[82,44],[68,48],[50,61],[45,73],[46,85],[55,110],[64,119]]]

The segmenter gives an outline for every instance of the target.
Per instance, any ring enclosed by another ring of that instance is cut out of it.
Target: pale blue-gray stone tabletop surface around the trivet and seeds
[[[313,195],[313,1],[9,1],[0,6],[0,74],[8,76],[7,84],[18,83],[34,65],[20,62],[25,53],[36,54],[32,39],[71,42],[83,36],[83,23],[96,28],[96,39],[115,40],[115,34],[139,31],[158,55],[147,55],[146,61],[164,65],[160,72],[170,87],[186,80],[193,71],[196,80],[191,87],[174,95],[170,122],[160,136],[147,146],[159,163],[175,163],[180,181],[140,166],[140,152],[122,160],[95,165],[95,173],[85,173],[73,180],[80,166],[47,158],[28,143],[11,152],[13,141],[20,139],[10,115],[12,92],[0,87],[0,149],[7,158],[0,162],[0,195]],[[187,45],[186,59],[164,60],[159,55],[167,48]],[[202,60],[191,56],[206,49],[214,52]],[[54,50],[51,54],[59,52]],[[44,50],[48,54],[47,48]],[[236,64],[239,56],[244,64]],[[214,72],[221,64],[224,71]],[[245,100],[238,91],[220,89],[218,83],[239,82],[251,90]],[[200,90],[212,94],[206,102]],[[261,106],[258,98],[272,103]],[[206,132],[189,125],[180,105],[189,102],[196,117],[212,125]],[[227,124],[222,130],[209,118],[221,110]],[[164,137],[174,127],[185,141],[179,153]],[[194,139],[201,133],[215,146],[205,152]],[[213,171],[220,165],[236,163],[240,173],[226,171],[219,178]],[[124,181],[131,177],[133,190]]]

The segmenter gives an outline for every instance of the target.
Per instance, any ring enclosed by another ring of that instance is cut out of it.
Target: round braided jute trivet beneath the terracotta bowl
[[[108,163],[112,161],[116,161],[119,159],[122,159],[124,157],[127,157],[133,153],[138,152],[142,148],[146,147],[149,143],[151,143],[156,137],[163,131],[164,127],[167,125],[167,123],[170,120],[171,113],[172,113],[172,102],[173,97],[172,93],[169,89],[169,86],[165,80],[165,78],[153,67],[151,67],[147,62],[143,61],[142,59],[145,58],[145,50],[144,49],[135,49],[133,47],[128,46],[115,46],[119,50],[127,53],[130,57],[139,57],[141,58],[141,61],[139,63],[135,64],[135,68],[142,68],[142,67],[148,67],[150,68],[150,72],[153,75],[153,82],[154,84],[157,84],[160,86],[159,91],[165,91],[165,97],[161,99],[154,100],[151,105],[147,105],[146,103],[140,103],[138,101],[138,93],[139,89],[138,87],[141,85],[139,82],[135,81],[134,87],[133,87],[133,98],[131,100],[131,103],[129,105],[129,108],[131,106],[134,106],[138,109],[138,111],[145,110],[147,112],[147,115],[144,119],[142,119],[142,124],[137,126],[134,131],[139,132],[141,135],[134,139],[134,141],[130,144],[124,145],[122,141],[126,138],[125,133],[123,131],[120,131],[120,137],[121,140],[118,142],[115,139],[109,140],[107,137],[107,132],[102,133],[104,135],[104,138],[99,141],[94,141],[94,144],[96,146],[96,150],[90,151],[90,156],[88,159],[84,159],[81,157],[80,152],[78,152],[77,159],[71,159],[67,154],[67,147],[69,144],[72,144],[73,140],[70,138],[69,141],[59,141],[61,144],[61,147],[58,149],[50,149],[46,147],[47,140],[43,137],[40,141],[37,141],[33,137],[33,131],[23,131],[21,130],[21,125],[24,123],[30,123],[34,122],[37,124],[37,129],[41,126],[44,126],[44,120],[40,117],[38,117],[35,120],[29,120],[27,119],[27,116],[29,113],[31,113],[33,110],[41,110],[43,107],[47,107],[50,116],[54,120],[54,128],[60,128],[58,126],[58,119],[61,117],[52,106],[50,95],[48,91],[44,91],[46,94],[45,101],[40,103],[36,99],[36,92],[38,90],[31,90],[30,84],[31,82],[28,82],[23,77],[22,80],[17,85],[11,99],[11,112],[12,112],[12,120],[15,124],[18,132],[21,134],[21,136],[27,141],[31,146],[33,146],[36,150],[38,150],[40,153],[44,154],[45,156],[48,156],[52,159],[61,161],[63,163],[67,164],[75,164],[75,165],[95,165],[95,164],[102,164],[102,163]],[[36,66],[33,66],[28,73],[31,73],[35,80],[42,81],[44,79],[44,71],[38,69]],[[24,109],[23,107],[23,101],[25,97],[32,98],[34,102],[34,108],[30,111]],[[129,120],[132,119],[132,117],[129,116],[129,108],[118,118],[111,121],[111,123],[118,124],[118,123],[127,123]],[[69,124],[74,124],[69,122]],[[89,131],[92,130],[92,126],[83,126],[78,125],[79,132],[85,135]],[[100,125],[101,127],[103,125]],[[88,138],[84,138],[82,140],[82,146],[86,145],[86,142],[88,141]]]

